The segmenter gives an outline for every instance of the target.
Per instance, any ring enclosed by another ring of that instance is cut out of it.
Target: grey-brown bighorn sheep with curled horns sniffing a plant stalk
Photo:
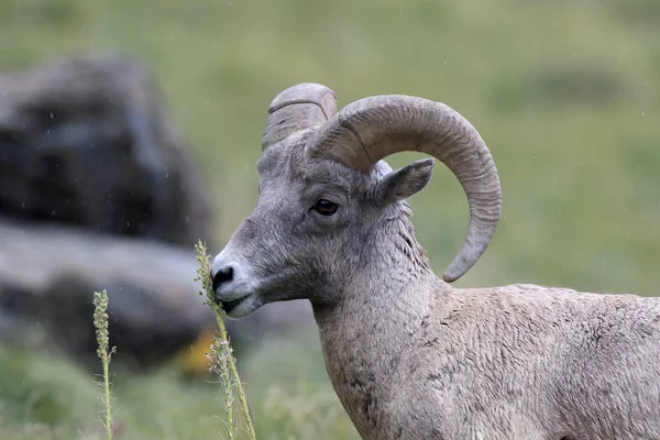
[[[660,439],[660,298],[534,285],[458,289],[501,213],[494,161],[446,105],[378,96],[337,112],[301,84],[271,105],[255,208],[212,263],[231,318],[308,298],[332,385],[365,439]],[[406,199],[435,160],[468,195],[443,277]]]

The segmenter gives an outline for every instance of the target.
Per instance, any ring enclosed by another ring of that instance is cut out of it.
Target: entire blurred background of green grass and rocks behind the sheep
[[[101,438],[101,289],[116,438],[221,438],[194,244],[215,255],[252,210],[268,103],[297,82],[340,108],[416,95],[477,128],[503,217],[458,286],[660,294],[657,0],[0,0],[0,69],[2,439]],[[411,202],[442,273],[464,195],[440,166]],[[230,332],[257,437],[359,438],[307,304]]]

